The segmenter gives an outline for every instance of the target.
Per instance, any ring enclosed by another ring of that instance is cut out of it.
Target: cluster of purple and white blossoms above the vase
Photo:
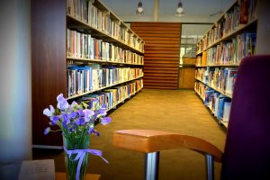
[[[100,121],[103,125],[112,121],[111,118],[105,117],[108,106],[103,104],[100,106],[99,100],[94,99],[91,101],[91,109],[86,103],[77,104],[76,102],[67,103],[67,99],[63,94],[58,94],[57,108],[54,109],[52,105],[49,108],[43,110],[43,114],[49,117],[49,125],[58,125],[58,128],[63,133],[71,133],[75,136],[80,136],[81,133],[85,133],[85,130],[89,134],[99,136],[99,132],[94,130],[94,121]],[[44,134],[48,134],[51,130],[50,127],[44,130]]]

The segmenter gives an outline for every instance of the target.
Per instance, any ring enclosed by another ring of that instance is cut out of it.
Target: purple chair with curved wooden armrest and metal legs
[[[238,67],[224,153],[211,143],[161,130],[117,130],[113,144],[145,153],[145,179],[158,179],[159,151],[188,148],[205,156],[207,179],[213,160],[221,179],[270,179],[270,56],[243,58]],[[269,113],[269,114],[268,114]]]

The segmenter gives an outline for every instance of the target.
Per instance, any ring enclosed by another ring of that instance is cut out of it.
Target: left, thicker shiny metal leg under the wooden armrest
[[[157,180],[158,179],[158,164],[159,164],[159,152],[152,152],[145,154],[144,162],[144,179],[145,180]]]

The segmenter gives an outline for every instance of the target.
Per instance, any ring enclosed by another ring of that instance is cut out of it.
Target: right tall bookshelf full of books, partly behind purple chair
[[[257,1],[238,0],[197,43],[194,90],[226,128],[238,65],[256,54],[256,39]]]

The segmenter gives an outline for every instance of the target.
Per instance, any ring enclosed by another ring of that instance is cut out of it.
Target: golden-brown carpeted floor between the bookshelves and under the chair
[[[114,130],[166,130],[206,139],[223,150],[226,132],[213,119],[193,90],[143,89],[138,95],[109,114],[112,122],[98,125],[100,137],[91,138],[91,148],[103,150],[103,157],[90,155],[87,173],[100,174],[102,180],[140,180],[144,174],[144,155],[112,146]],[[33,158],[54,158],[56,171],[64,172],[64,153],[33,150]],[[215,179],[220,179],[215,163]],[[174,149],[160,153],[159,179],[205,179],[204,157],[191,150]]]

